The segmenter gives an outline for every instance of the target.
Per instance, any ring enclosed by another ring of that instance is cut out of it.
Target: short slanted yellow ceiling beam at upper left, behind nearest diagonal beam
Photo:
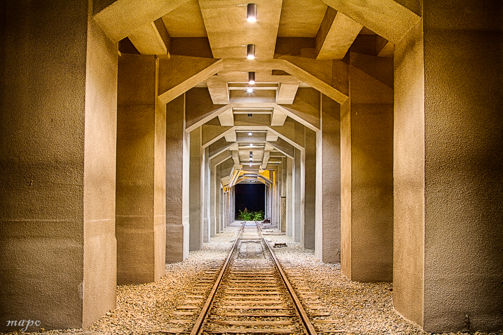
[[[170,56],[171,37],[162,19],[139,26],[128,37],[142,55]]]

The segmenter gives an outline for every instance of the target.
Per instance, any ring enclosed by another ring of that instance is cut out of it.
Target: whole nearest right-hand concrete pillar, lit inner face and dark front
[[[424,22],[395,49],[393,303],[429,332],[495,331],[503,328],[503,8],[423,6]]]

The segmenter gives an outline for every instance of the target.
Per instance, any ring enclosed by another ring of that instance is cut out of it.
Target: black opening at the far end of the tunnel
[[[251,212],[266,210],[266,185],[262,183],[242,183],[234,186],[236,219],[239,211],[246,208]]]

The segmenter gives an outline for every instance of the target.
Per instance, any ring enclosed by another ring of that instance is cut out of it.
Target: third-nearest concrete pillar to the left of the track
[[[166,263],[189,257],[189,133],[185,95],[166,105]]]

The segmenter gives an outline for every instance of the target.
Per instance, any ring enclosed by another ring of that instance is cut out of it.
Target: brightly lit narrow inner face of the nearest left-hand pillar
[[[117,45],[89,20],[84,133],[82,328],[115,309]]]

